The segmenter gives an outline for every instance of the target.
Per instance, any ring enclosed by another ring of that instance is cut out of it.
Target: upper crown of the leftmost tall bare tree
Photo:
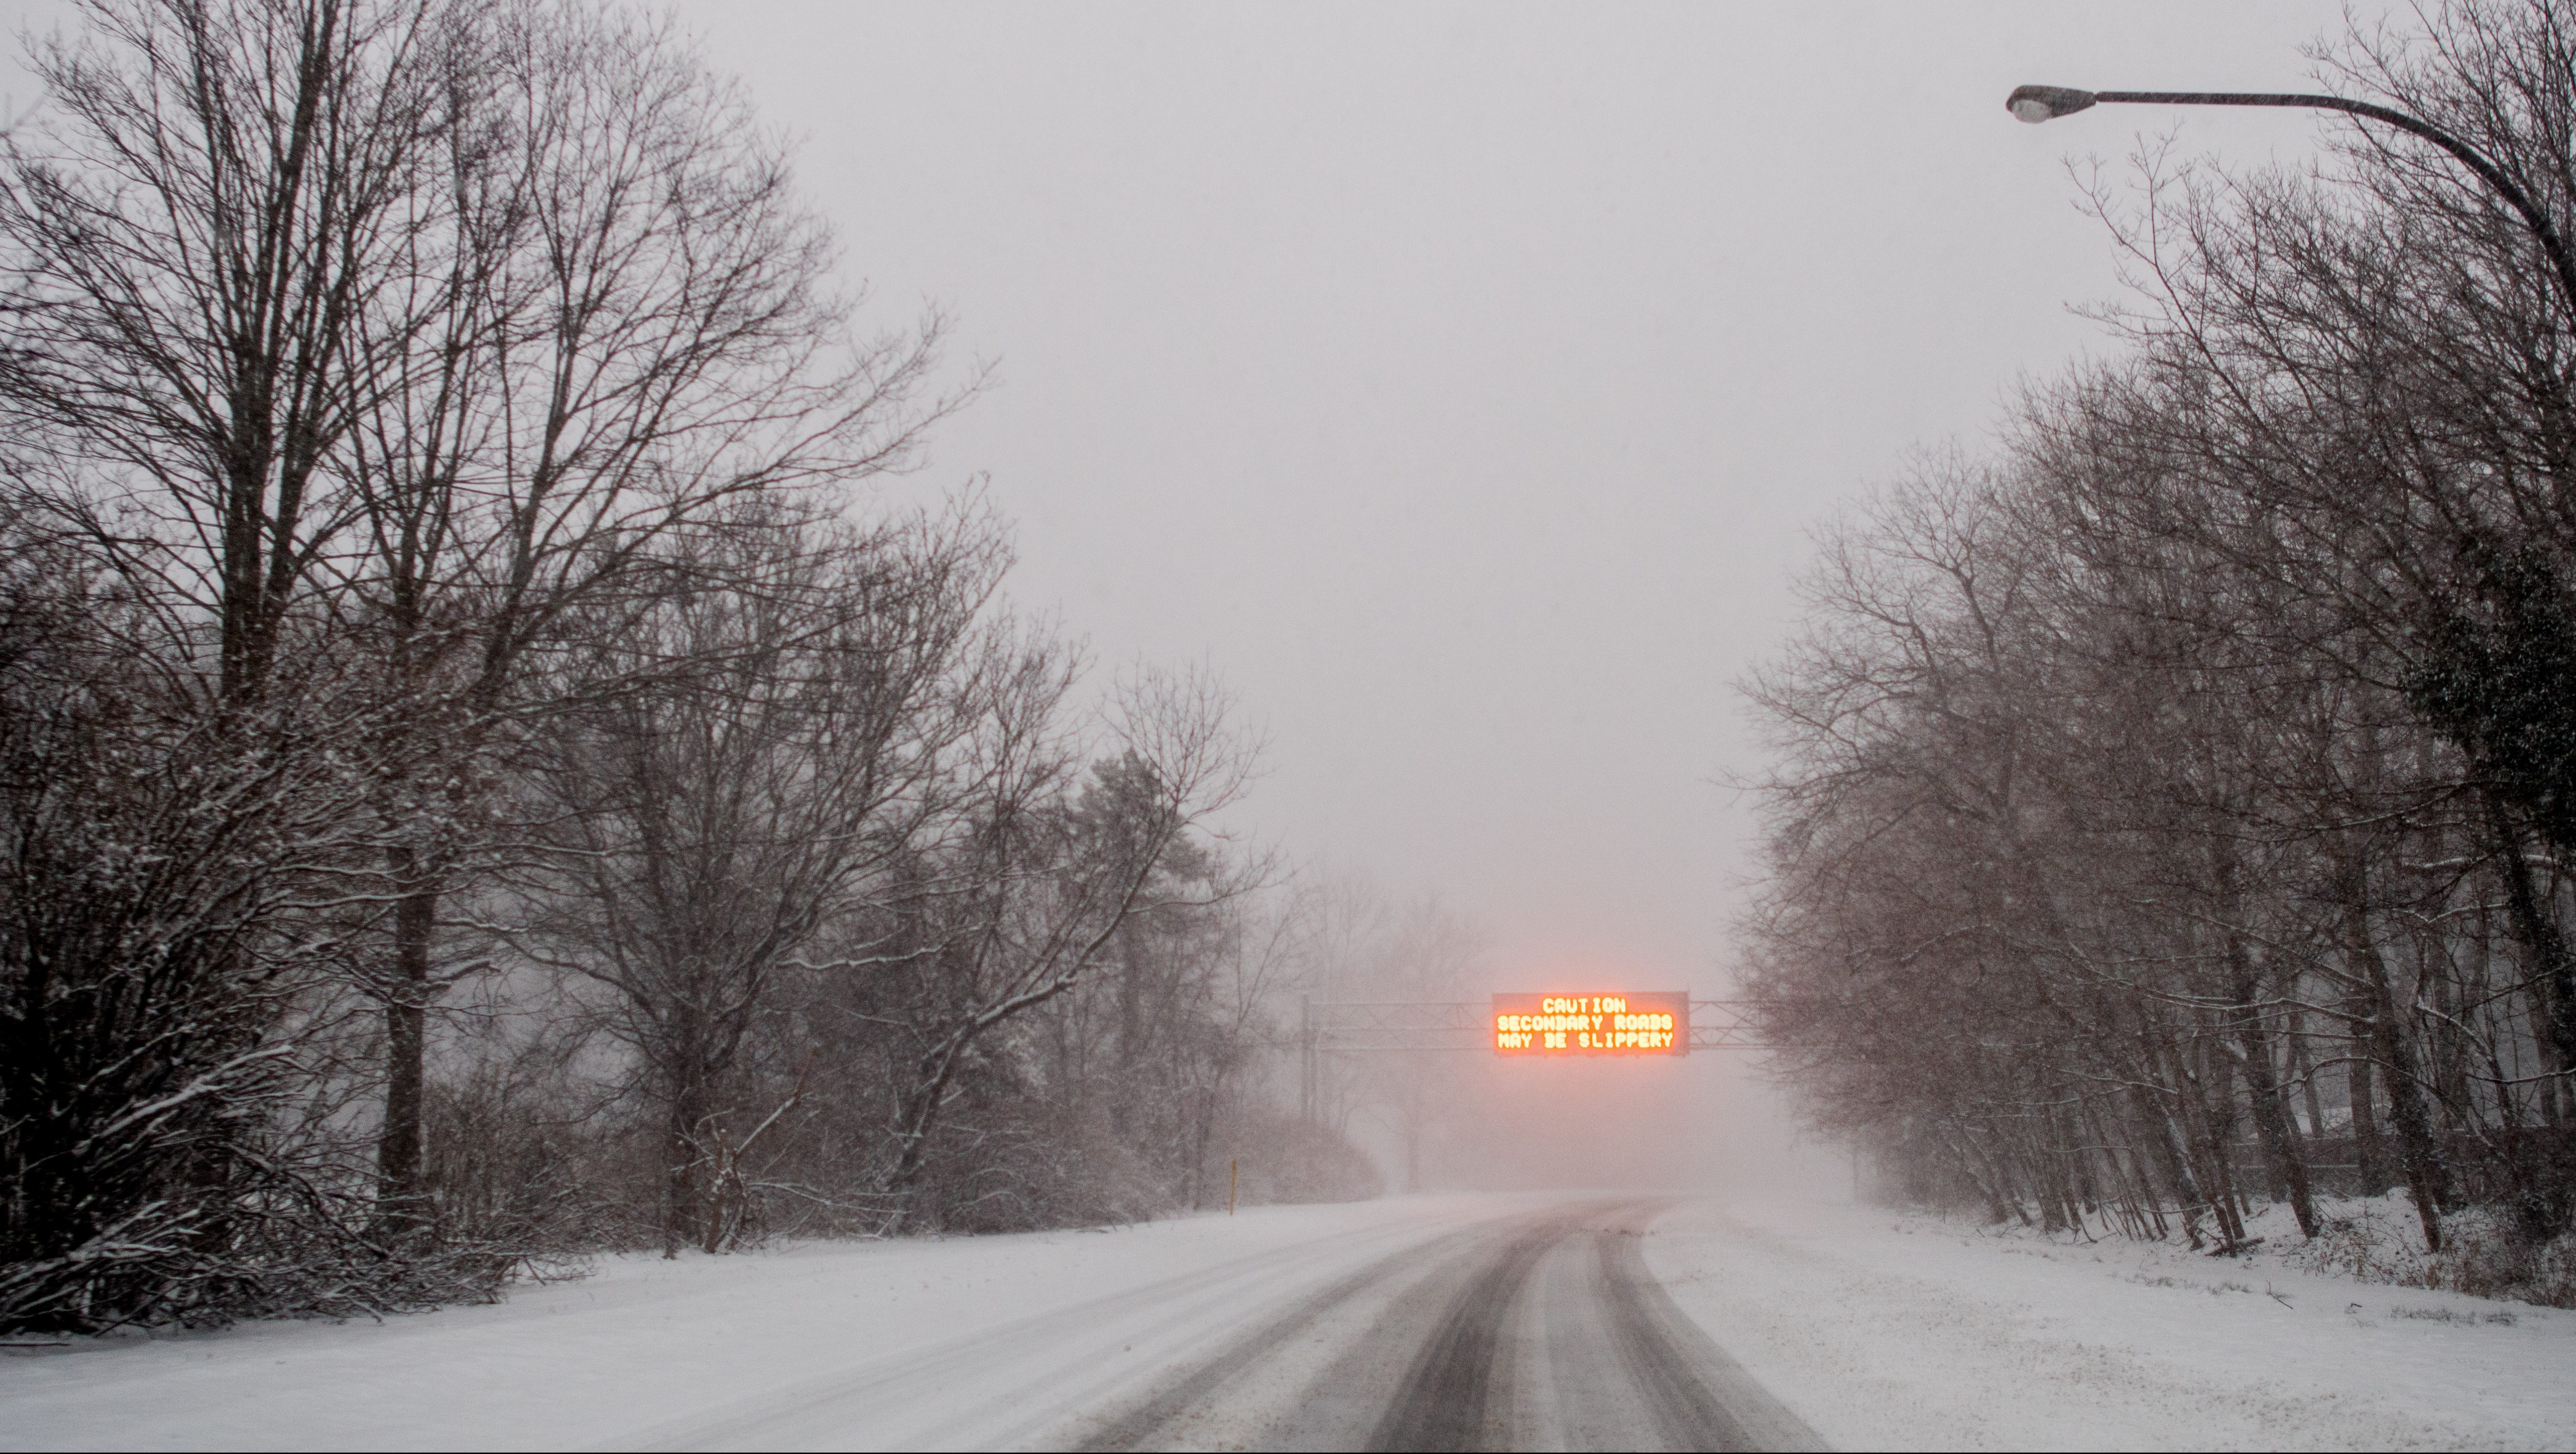
[[[263,691],[348,549],[332,472],[371,374],[425,325],[389,291],[446,124],[435,0],[100,0],[39,52],[0,183],[0,410],[36,518],[162,598],[206,691]],[[363,327],[361,320],[371,320]]]

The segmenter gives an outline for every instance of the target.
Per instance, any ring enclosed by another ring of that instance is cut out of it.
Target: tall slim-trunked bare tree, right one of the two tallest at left
[[[840,508],[971,392],[920,397],[935,315],[855,333],[858,299],[832,291],[832,240],[786,150],[667,21],[497,5],[471,59],[438,229],[368,315],[386,345],[368,353],[345,451],[363,621],[415,704],[407,730],[446,745],[386,804],[404,830],[379,1152],[397,1207],[420,1191],[438,902],[469,864],[484,755],[551,709],[533,688],[556,681],[546,652],[670,536],[721,528],[750,498]]]

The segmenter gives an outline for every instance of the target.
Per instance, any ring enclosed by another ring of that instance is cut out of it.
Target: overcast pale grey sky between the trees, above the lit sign
[[[1247,822],[1494,931],[1502,980],[1718,987],[1728,681],[1803,528],[2112,291],[2063,160],[2300,157],[2303,113],[2004,113],[2025,80],[2306,88],[2295,5],[683,5],[881,302],[999,389],[1015,596],[1208,660]]]

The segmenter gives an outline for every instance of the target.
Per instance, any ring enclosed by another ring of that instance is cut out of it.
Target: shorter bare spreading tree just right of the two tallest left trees
[[[716,1191],[750,1137],[724,1096],[773,980],[956,812],[997,565],[974,516],[739,523],[567,657],[582,706],[523,779],[551,851],[518,874],[510,938],[611,993],[665,1119],[667,1248],[734,1232]]]

